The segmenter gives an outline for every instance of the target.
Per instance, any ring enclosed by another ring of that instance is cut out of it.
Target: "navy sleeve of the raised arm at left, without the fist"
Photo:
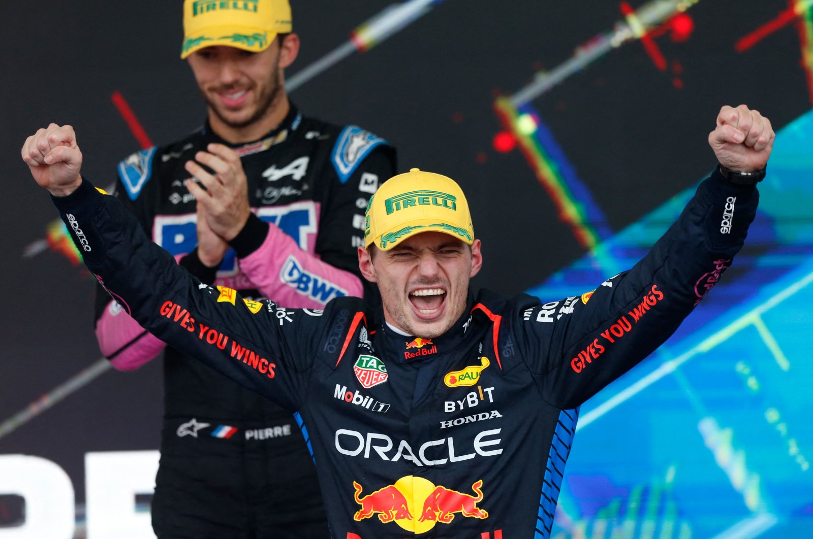
[[[54,205],[64,221],[77,223],[74,241],[85,237],[85,265],[138,324],[235,382],[296,409],[291,390],[296,373],[276,369],[291,345],[281,344],[287,326],[271,323],[276,321],[273,305],[249,308],[235,291],[193,278],[146,237],[119,201],[95,192],[89,183],[54,199]]]

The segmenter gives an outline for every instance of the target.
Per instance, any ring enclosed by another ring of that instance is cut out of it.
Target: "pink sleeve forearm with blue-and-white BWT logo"
[[[343,295],[361,297],[361,279],[302,251],[276,226],[258,249],[239,259],[240,269],[268,299],[291,308],[321,308]]]

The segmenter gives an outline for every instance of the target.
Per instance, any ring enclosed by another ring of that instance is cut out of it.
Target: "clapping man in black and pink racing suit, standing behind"
[[[287,0],[187,0],[184,29],[181,58],[207,122],[121,162],[115,196],[203,282],[298,308],[362,295],[355,249],[367,201],[394,174],[393,149],[289,103],[283,72],[299,39]],[[186,182],[210,172],[217,180],[207,191]],[[204,214],[244,228],[239,241],[251,255],[235,257]],[[158,356],[163,341],[98,292],[96,334],[113,366],[137,369]],[[173,347],[164,353],[164,386],[152,504],[159,537],[327,535],[311,455],[289,412]]]

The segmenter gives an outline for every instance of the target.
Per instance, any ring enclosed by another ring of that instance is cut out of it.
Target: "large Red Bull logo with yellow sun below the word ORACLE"
[[[472,484],[467,494],[444,486],[433,485],[423,477],[406,476],[394,485],[361,496],[362,485],[353,481],[355,502],[361,506],[353,520],[361,521],[378,515],[382,523],[394,522],[408,532],[426,533],[437,523],[450,524],[455,515],[475,519],[489,518],[489,511],[477,504],[483,501],[483,481]]]

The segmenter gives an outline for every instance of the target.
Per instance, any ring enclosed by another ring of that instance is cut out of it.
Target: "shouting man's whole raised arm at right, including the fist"
[[[593,292],[519,314],[518,338],[549,403],[578,406],[674,333],[742,247],[773,139],[759,112],[724,106],[709,144],[728,178],[715,169],[631,270]]]

